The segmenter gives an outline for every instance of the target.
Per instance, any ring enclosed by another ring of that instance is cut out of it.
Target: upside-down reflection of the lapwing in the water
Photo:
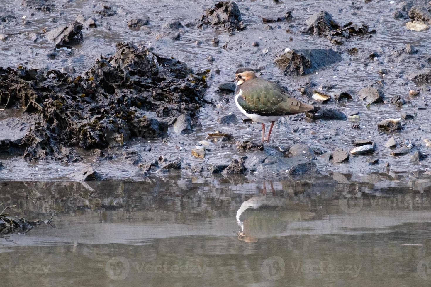
[[[315,217],[315,209],[278,196],[272,181],[269,184],[271,193],[266,190],[264,181],[259,195],[244,201],[238,209],[236,219],[240,241],[253,243],[259,238],[281,235],[289,223]]]

